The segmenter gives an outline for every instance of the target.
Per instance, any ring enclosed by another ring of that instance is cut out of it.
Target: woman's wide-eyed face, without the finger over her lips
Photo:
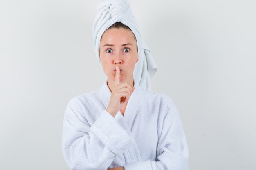
[[[133,80],[138,51],[132,31],[123,28],[106,30],[101,37],[99,56],[108,80],[115,81],[117,65],[120,68],[120,82]]]

